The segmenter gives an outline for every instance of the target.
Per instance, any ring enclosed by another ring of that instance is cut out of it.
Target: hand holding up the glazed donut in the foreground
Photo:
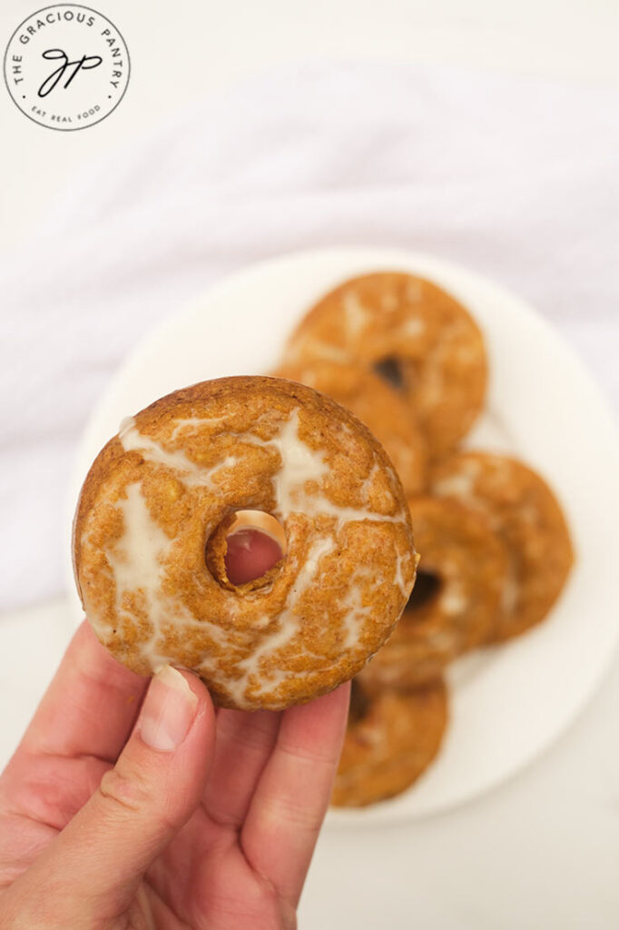
[[[0,777],[1,930],[294,927],[348,696],[216,710],[82,624]]]

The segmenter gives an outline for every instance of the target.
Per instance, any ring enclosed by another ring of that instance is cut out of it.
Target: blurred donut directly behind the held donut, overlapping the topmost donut
[[[365,423],[400,475],[404,493],[421,494],[428,480],[428,448],[409,406],[398,392],[359,365],[317,359],[306,365],[282,365],[279,378],[299,381],[327,394]]]

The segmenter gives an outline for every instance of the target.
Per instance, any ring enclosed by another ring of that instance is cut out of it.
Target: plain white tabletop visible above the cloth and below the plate
[[[4,0],[3,45],[37,6]],[[0,93],[0,246],[23,241],[89,157],[138,138],[179,105],[278,62],[344,56],[619,78],[616,0],[98,0],[96,6],[131,51],[125,100],[99,126],[62,134],[34,126]],[[18,649],[0,667],[0,719],[9,741],[19,737],[68,632],[60,603],[0,621],[0,648],[10,639]],[[20,656],[28,657],[27,689]],[[10,694],[17,684],[16,708]],[[326,833],[301,926],[619,925],[618,707],[615,663],[572,730],[502,789],[409,829],[360,832],[353,842],[349,834]]]

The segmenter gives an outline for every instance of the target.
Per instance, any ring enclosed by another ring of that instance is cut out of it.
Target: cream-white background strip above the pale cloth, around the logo
[[[44,6],[3,0],[3,53],[20,21]],[[95,7],[129,47],[125,100],[98,126],[44,133],[0,94],[0,246],[22,239],[89,156],[279,62],[416,60],[619,78],[617,0],[98,0]]]

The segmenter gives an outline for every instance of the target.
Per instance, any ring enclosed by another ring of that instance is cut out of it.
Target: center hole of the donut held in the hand
[[[286,554],[283,525],[263,511],[230,514],[206,543],[206,566],[225,588],[251,584],[259,588],[270,582],[272,571]]]

